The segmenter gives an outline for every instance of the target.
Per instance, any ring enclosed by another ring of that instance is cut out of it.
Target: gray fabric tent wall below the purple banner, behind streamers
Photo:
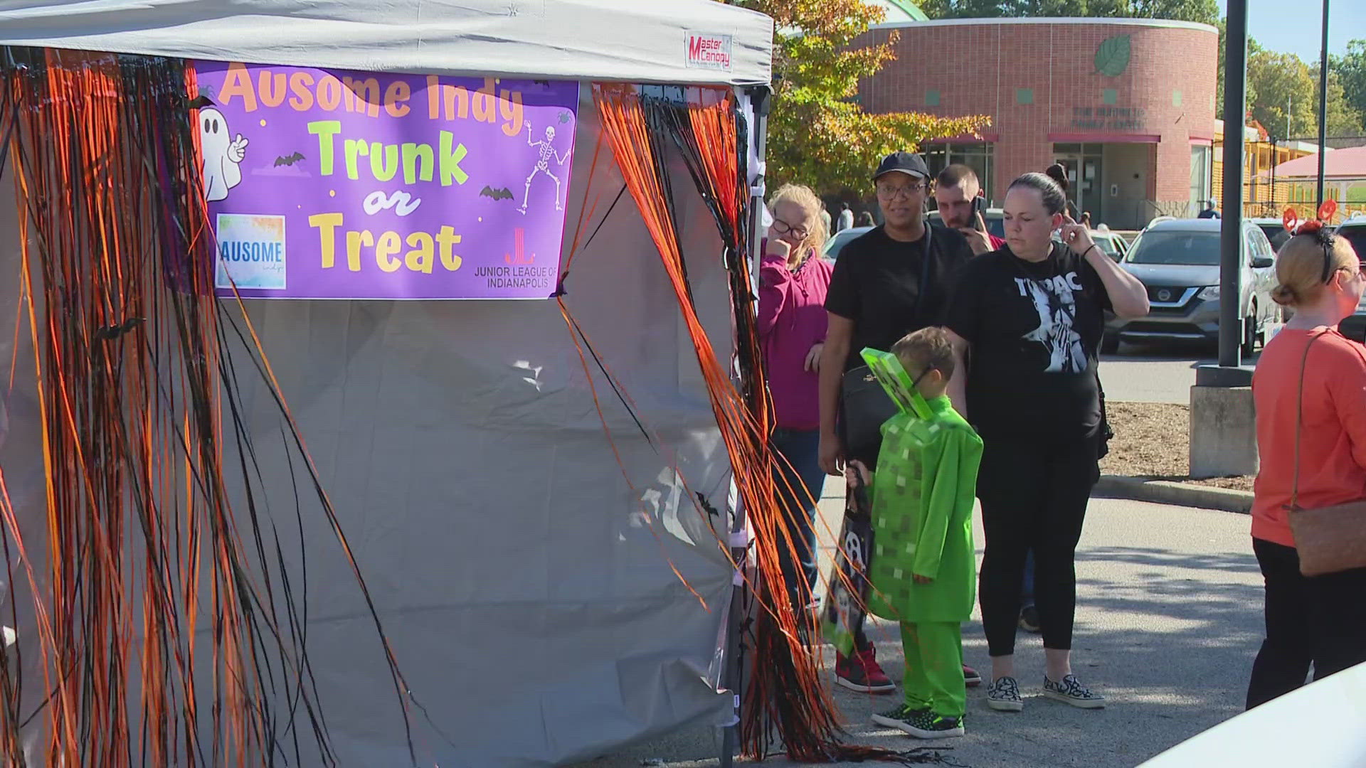
[[[578,130],[566,251],[585,200],[600,201],[586,238],[622,189],[607,146],[591,167],[589,83]],[[728,365],[721,243],[686,169],[671,172],[698,314]],[[4,359],[19,298],[15,210],[5,179]],[[717,691],[732,589],[717,541],[727,537],[731,470],[630,194],[581,247],[566,288],[570,312],[657,433],[652,445],[590,357],[622,466],[555,301],[246,302],[421,705],[410,716],[423,764],[552,765],[732,717],[731,696]],[[27,335],[23,324],[0,458],[20,518],[41,532]],[[281,420],[254,369],[239,364],[238,373],[269,517],[292,584],[309,589],[309,657],[340,764],[407,764],[399,701],[350,567],[316,502],[305,503],[301,538],[295,488],[306,476],[296,456],[291,473]],[[698,495],[720,515],[699,511]],[[27,541],[41,556],[45,537]],[[23,603],[26,585],[16,586]],[[36,660],[31,625],[19,642]]]

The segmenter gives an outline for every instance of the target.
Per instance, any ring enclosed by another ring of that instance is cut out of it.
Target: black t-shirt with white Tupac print
[[[1094,436],[1097,347],[1109,309],[1096,268],[1061,243],[1037,264],[1009,246],[968,262],[947,323],[971,344],[968,421],[984,437]]]

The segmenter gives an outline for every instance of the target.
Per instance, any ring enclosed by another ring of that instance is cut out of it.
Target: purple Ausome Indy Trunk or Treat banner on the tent
[[[219,295],[555,292],[578,83],[195,70]]]

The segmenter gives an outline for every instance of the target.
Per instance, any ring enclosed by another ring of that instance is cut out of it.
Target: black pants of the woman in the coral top
[[[1266,579],[1266,640],[1253,663],[1247,708],[1366,663],[1366,568],[1305,578],[1294,547],[1253,540]]]

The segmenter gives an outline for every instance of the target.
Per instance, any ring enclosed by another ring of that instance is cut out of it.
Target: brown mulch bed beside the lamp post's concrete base
[[[1101,471],[1251,491],[1253,476],[1190,477],[1190,407],[1169,403],[1105,403],[1115,429]]]

